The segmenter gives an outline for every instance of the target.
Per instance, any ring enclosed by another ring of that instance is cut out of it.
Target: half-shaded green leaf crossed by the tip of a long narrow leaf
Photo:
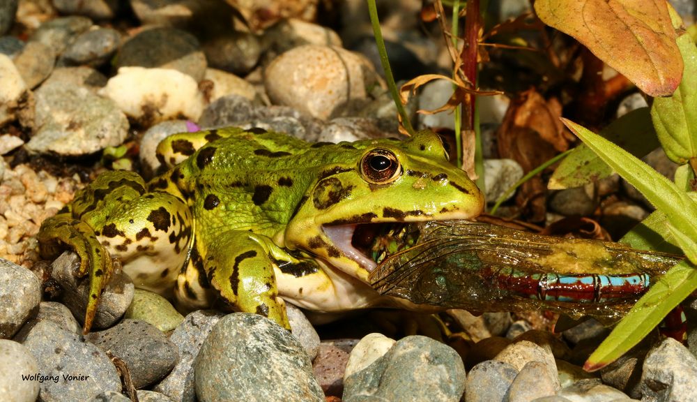
[[[651,124],[648,107],[641,107],[625,114],[603,128],[600,135],[638,158],[660,145]],[[581,144],[559,163],[547,187],[551,190],[580,187],[591,181],[604,179],[612,173],[612,168],[603,162],[602,158],[587,145]]]

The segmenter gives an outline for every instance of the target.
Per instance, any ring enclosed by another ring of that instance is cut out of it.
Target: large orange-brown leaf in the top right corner
[[[540,20],[583,43],[650,96],[673,94],[682,58],[665,0],[537,0]]]

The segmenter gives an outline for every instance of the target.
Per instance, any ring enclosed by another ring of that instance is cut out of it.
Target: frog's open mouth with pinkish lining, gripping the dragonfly
[[[413,246],[419,237],[418,225],[413,223],[359,223],[323,229],[336,248],[369,272],[389,255]]]

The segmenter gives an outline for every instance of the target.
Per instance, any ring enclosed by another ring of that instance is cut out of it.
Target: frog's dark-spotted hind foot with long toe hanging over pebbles
[[[59,214],[44,221],[37,239],[42,258],[54,259],[67,246],[80,258],[75,276],[80,278],[89,274],[89,300],[82,327],[82,332],[87,334],[92,327],[102,291],[112,276],[112,258],[98,241],[94,230],[70,214]]]

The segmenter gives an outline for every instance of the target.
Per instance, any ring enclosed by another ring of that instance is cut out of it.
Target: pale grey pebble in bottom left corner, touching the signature
[[[39,382],[22,376],[36,375],[38,371],[38,363],[26,346],[0,339],[0,401],[36,401]]]

